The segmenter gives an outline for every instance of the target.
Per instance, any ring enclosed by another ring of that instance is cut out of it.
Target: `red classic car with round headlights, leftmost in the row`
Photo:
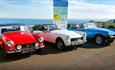
[[[43,37],[30,32],[25,25],[0,26],[0,50],[4,54],[40,52],[44,47]]]

